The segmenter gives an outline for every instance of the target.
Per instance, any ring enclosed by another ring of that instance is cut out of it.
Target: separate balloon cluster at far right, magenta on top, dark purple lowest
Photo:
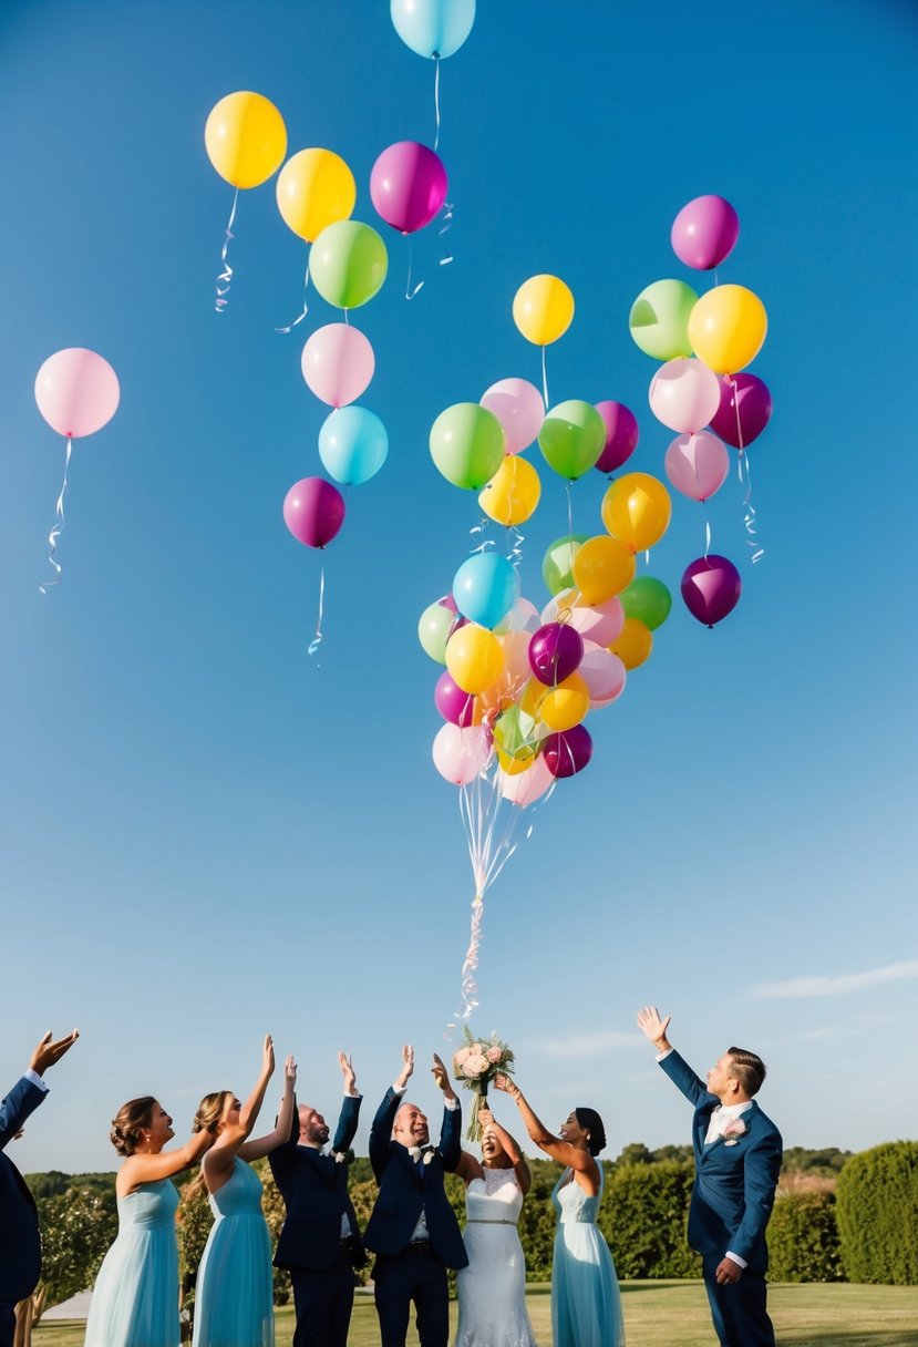
[[[672,228],[676,256],[696,271],[715,271],[739,237],[736,211],[723,197],[697,197],[677,214]],[[755,540],[746,450],[766,427],[771,395],[755,374],[742,373],[758,356],[767,331],[762,300],[744,286],[715,284],[699,298],[682,280],[657,280],[641,291],[629,318],[637,346],[664,361],[650,381],[650,409],[677,431],[665,455],[672,485],[691,500],[707,502],[730,473],[724,440],[739,450],[739,475],[746,481],[746,529],[752,560],[762,550]],[[688,610],[713,626],[736,606],[739,571],[711,552],[705,515],[705,551],[682,575]]]

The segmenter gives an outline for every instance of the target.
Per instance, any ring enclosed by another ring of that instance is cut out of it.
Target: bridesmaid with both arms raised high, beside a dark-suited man
[[[273,1347],[271,1237],[261,1212],[261,1180],[249,1167],[249,1161],[289,1140],[296,1086],[292,1057],[284,1065],[277,1126],[249,1141],[273,1070],[275,1049],[268,1036],[261,1072],[245,1105],[232,1090],[221,1090],[205,1095],[195,1114],[195,1127],[214,1142],[201,1165],[214,1224],[198,1270],[194,1347]]]

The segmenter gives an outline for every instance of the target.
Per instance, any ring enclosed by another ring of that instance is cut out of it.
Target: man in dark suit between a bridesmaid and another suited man
[[[366,1262],[354,1207],[347,1196],[349,1146],[357,1131],[361,1095],[350,1057],[338,1053],[345,1102],[331,1154],[328,1125],[302,1103],[293,1110],[289,1141],[268,1157],[287,1207],[275,1263],[293,1284],[293,1347],[346,1347],[354,1307],[354,1268]]]

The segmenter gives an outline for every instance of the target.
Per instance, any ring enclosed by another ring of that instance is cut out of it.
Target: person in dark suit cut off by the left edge
[[[52,1043],[46,1033],[32,1053],[28,1071],[0,1103],[0,1347],[12,1347],[16,1305],[32,1294],[42,1272],[35,1199],[5,1154],[5,1146],[44,1099],[48,1088],[42,1079],[44,1072],[78,1037],[74,1029],[66,1039]]]

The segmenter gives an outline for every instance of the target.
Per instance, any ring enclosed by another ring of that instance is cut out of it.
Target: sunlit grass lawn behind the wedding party
[[[629,1347],[712,1347],[708,1301],[700,1281],[622,1282]],[[548,1286],[529,1288],[526,1305],[536,1340],[551,1347]],[[918,1286],[779,1285],[769,1290],[779,1347],[915,1347]],[[455,1328],[455,1304],[451,1307]],[[293,1311],[277,1311],[277,1347],[289,1347]],[[39,1324],[34,1347],[82,1347],[85,1324]],[[378,1347],[373,1297],[358,1293],[349,1347]],[[408,1343],[417,1342],[412,1328]],[[588,1344],[584,1344],[588,1347]]]

